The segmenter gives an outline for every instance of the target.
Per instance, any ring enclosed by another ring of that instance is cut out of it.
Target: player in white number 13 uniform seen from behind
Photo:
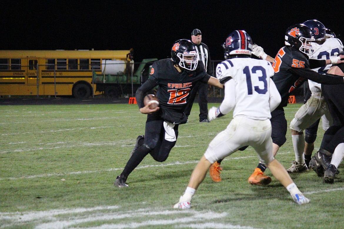
[[[260,161],[287,188],[296,203],[309,203],[286,169],[272,156],[270,112],[279,105],[281,96],[271,79],[274,74],[271,63],[250,58],[252,40],[243,30],[229,34],[224,51],[226,60],[217,65],[216,77],[225,84],[225,97],[218,108],[209,110],[209,119],[214,120],[234,109],[233,119],[210,142],[192,172],[184,195],[173,207],[190,208],[192,196],[211,164],[248,145],[256,150]]]

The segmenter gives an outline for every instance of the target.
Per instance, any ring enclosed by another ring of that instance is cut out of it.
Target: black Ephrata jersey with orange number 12
[[[198,61],[194,71],[184,69],[178,72],[171,59],[157,60],[150,73],[150,79],[159,85],[156,96],[159,98],[160,107],[176,112],[184,111],[186,99],[196,82],[207,83],[209,78],[202,61]]]

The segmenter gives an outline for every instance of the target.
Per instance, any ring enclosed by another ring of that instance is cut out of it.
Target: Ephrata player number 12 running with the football
[[[144,135],[137,137],[131,157],[114,183],[128,187],[129,174],[141,163],[147,154],[163,162],[169,156],[178,138],[178,127],[187,121],[184,109],[191,89],[197,82],[208,83],[218,88],[223,85],[217,78],[208,75],[202,61],[197,60],[197,50],[190,40],[176,41],[171,49],[171,59],[153,63],[150,78],[136,91],[136,101],[142,114],[147,115]],[[148,91],[159,85],[157,98],[160,107],[144,106],[143,98]]]

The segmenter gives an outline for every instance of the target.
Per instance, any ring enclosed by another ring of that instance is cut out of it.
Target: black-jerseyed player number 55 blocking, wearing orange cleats
[[[288,98],[293,90],[300,87],[307,79],[321,84],[343,84],[343,77],[321,75],[311,69],[343,62],[340,60],[344,56],[334,57],[329,60],[309,59],[312,55],[313,47],[311,42],[315,41],[309,27],[304,24],[290,26],[285,35],[286,46],[282,47],[273,62],[275,75],[273,82],[281,95],[282,101],[276,110],[271,112],[273,156],[278,149],[286,142],[287,120],[283,107],[287,106]],[[258,164],[254,173],[249,177],[250,184],[265,185],[271,182],[271,178],[264,175],[266,166]]]

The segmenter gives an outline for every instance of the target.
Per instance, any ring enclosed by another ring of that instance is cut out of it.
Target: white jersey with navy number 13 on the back
[[[220,82],[224,83],[230,78],[235,81],[233,117],[245,116],[255,120],[271,118],[269,87],[273,74],[271,63],[266,60],[233,58],[217,65],[216,77]],[[228,104],[226,99],[231,98],[225,96],[220,108]]]

